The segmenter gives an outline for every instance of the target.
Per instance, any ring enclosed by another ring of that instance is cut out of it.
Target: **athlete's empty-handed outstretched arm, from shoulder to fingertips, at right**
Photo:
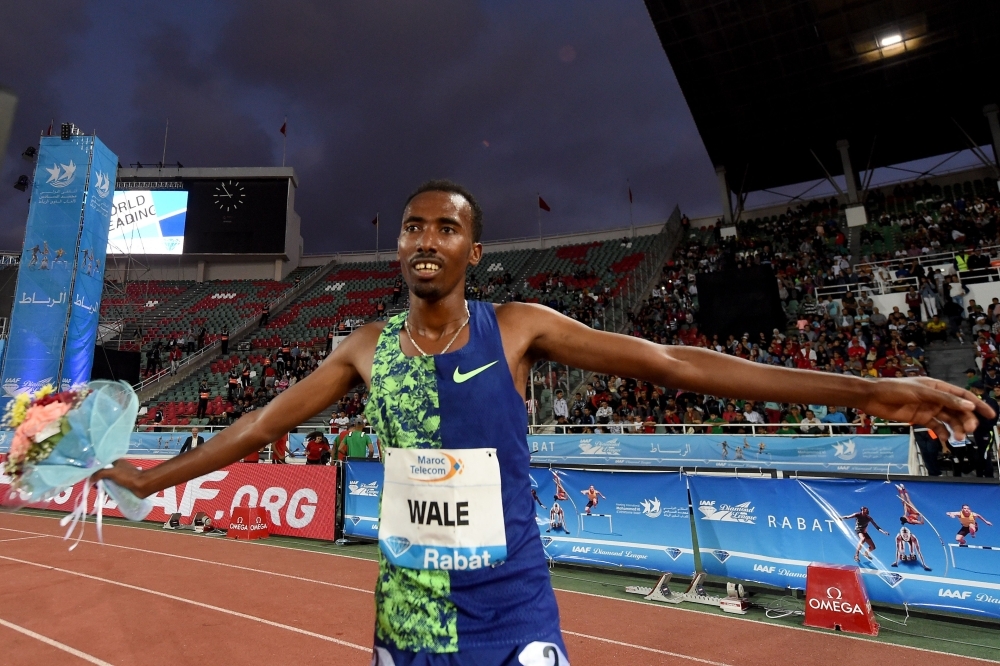
[[[929,377],[870,380],[763,365],[714,350],[663,346],[597,331],[540,305],[502,307],[517,321],[512,328],[523,331],[514,332],[512,342],[521,345],[532,362],[545,358],[708,395],[854,407],[891,421],[925,425],[942,441],[948,441],[948,427],[958,439],[974,431],[977,411],[994,416],[989,405],[969,391]]]

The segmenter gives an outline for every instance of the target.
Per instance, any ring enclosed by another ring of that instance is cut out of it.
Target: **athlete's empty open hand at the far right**
[[[976,412],[994,416],[990,406],[969,391],[930,377],[879,379],[866,393],[858,405],[866,414],[927,426],[942,442],[950,437],[962,440],[973,432],[978,426]]]

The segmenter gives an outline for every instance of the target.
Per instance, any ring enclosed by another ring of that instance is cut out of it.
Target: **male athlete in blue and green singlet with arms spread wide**
[[[467,466],[495,452],[497,472],[479,464],[487,481],[502,478],[500,497],[482,515],[468,516],[467,528],[478,543],[486,542],[483,530],[506,540],[502,563],[491,558],[473,569],[466,562],[464,570],[444,569],[443,558],[426,555],[419,567],[399,566],[390,562],[399,556],[383,550],[375,581],[374,663],[567,666],[529,491],[524,389],[537,361],[710,395],[845,405],[927,425],[942,440],[945,424],[964,437],[976,428],[976,410],[993,413],[971,393],[929,378],[869,381],[769,366],[591,329],[542,305],[467,302],[466,271],[482,259],[481,233],[482,211],[464,188],[447,181],[420,186],[406,201],[397,245],[409,311],[355,330],[311,375],[205,446],[148,470],[119,460],[95,480],[110,478],[146,497],[240,460],[364,382],[370,390],[365,414],[387,447],[387,475],[390,459],[418,449],[457,454]],[[387,508],[387,494],[383,514],[406,515],[405,499]],[[496,521],[502,521],[499,531]],[[423,548],[411,540],[410,553],[415,546]],[[477,555],[475,561],[483,560]]]

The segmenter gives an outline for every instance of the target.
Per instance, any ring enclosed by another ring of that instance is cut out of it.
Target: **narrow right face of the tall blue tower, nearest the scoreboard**
[[[90,381],[97,322],[101,314],[101,292],[104,290],[104,258],[108,249],[111,202],[118,177],[118,156],[97,137],[85,138],[93,141],[93,154],[66,333],[63,388]]]

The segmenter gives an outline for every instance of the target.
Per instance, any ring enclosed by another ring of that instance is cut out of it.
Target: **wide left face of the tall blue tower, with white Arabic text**
[[[10,337],[4,354],[7,400],[58,381],[91,137],[42,137],[17,273]]]

